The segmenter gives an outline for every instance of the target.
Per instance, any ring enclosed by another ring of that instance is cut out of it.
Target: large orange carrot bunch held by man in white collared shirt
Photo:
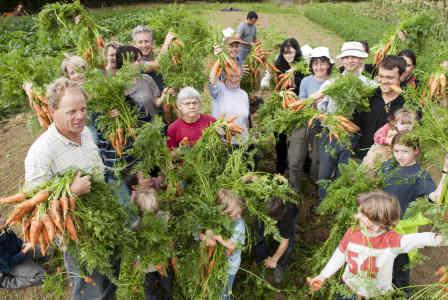
[[[56,236],[63,240],[67,234],[70,240],[78,240],[73,216],[77,197],[70,190],[74,176],[69,171],[35,191],[0,199],[2,205],[14,205],[5,225],[20,223],[25,242],[33,249],[39,245],[43,255]]]

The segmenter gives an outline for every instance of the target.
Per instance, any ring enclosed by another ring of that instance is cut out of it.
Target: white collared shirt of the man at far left
[[[28,150],[25,187],[35,187],[70,168],[104,173],[98,148],[87,127],[81,133],[81,144],[77,144],[60,134],[53,123]]]

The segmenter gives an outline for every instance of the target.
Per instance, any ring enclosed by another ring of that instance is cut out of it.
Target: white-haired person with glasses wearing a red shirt
[[[170,149],[177,148],[181,142],[193,145],[202,136],[202,131],[215,122],[210,115],[201,114],[201,99],[197,90],[184,87],[177,95],[180,118],[170,124],[167,130],[167,144]]]

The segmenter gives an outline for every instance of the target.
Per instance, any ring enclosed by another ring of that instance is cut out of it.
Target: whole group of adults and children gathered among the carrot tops
[[[104,73],[107,76],[114,76],[126,59],[142,65],[143,73],[125,95],[128,104],[139,111],[140,124],[151,122],[155,116],[161,115],[161,105],[165,97],[177,94],[179,117],[170,124],[166,122],[167,147],[171,151],[175,152],[180,145],[193,145],[200,139],[205,128],[223,116],[236,117],[236,124],[243,129],[241,135],[232,138],[233,146],[238,147],[248,141],[252,123],[249,97],[247,92],[240,88],[240,82],[245,69],[244,61],[251,47],[257,42],[255,25],[257,19],[255,12],[249,12],[246,21],[238,27],[236,35],[227,37],[224,47],[214,47],[214,54],[222,51],[227,53],[238,66],[238,72],[216,76],[218,65],[212,67],[208,83],[212,97],[211,115],[201,112],[201,94],[196,89],[184,87],[177,92],[164,86],[163,74],[159,72],[159,64],[153,51],[153,32],[146,26],[134,28],[132,46],[116,42],[106,45]],[[171,34],[166,36],[160,49],[161,54],[166,53],[173,38]],[[358,41],[344,43],[341,53],[337,56],[341,68],[340,74],[335,76],[351,74],[359,78],[363,84],[375,88],[374,95],[369,99],[370,109],[355,112],[352,116],[353,122],[360,128],[359,134],[353,136],[351,140],[352,149],[347,149],[337,140],[330,139],[328,131],[320,124],[314,124],[312,127],[298,124],[289,136],[282,132],[276,133],[276,172],[287,173],[291,187],[299,193],[304,192],[306,171],[309,171],[312,181],[331,180],[339,175],[338,167],[347,163],[350,157],[371,168],[372,172],[381,172],[385,177],[384,192],[377,191],[358,196],[359,210],[356,217],[359,226],[347,231],[324,270],[317,277],[310,279],[311,288],[317,290],[346,263],[343,281],[354,295],[347,299],[355,299],[357,295],[371,297],[384,294],[392,289],[392,281],[399,288],[408,286],[409,257],[406,253],[414,248],[438,246],[445,242],[433,233],[401,236],[392,229],[410,203],[419,197],[437,201],[442,190],[441,184],[436,187],[430,175],[417,163],[419,146],[409,136],[421,112],[405,108],[405,100],[397,89],[400,86],[415,86],[419,83],[413,74],[416,56],[411,50],[406,49],[399,55],[386,56],[377,67],[365,63],[368,56],[367,43]],[[335,81],[332,74],[338,73],[327,47],[319,46],[309,53],[302,53],[298,41],[288,38],[280,45],[275,67],[280,73],[285,73],[293,68],[295,63],[305,59],[311,75],[305,76],[298,71],[295,72],[293,89],[297,99],[312,98],[320,112],[335,113],[336,102],[322,92]],[[122,205],[130,205],[131,200],[137,203],[139,191],[144,191],[145,188],[157,190],[163,186],[161,183],[163,174],[154,170],[151,174],[125,172],[118,178],[114,175],[114,166],[119,159],[129,165],[134,161],[132,157],[126,155],[119,158],[110,141],[98,130],[96,123],[98,115],[87,111],[88,95],[82,88],[86,68],[87,64],[82,58],[68,56],[62,62],[64,76],[48,86],[46,96],[53,123],[28,151],[25,160],[25,185],[31,188],[69,168],[77,168],[87,173],[102,173],[107,182],[118,185],[120,187],[118,199]],[[270,88],[270,77],[271,74],[268,73],[263,78],[262,88]],[[25,84],[24,89],[28,95],[31,94],[30,84]],[[119,113],[117,109],[112,109],[109,117],[115,118]],[[306,168],[306,161],[310,161],[309,168]],[[377,166],[381,167],[376,168]],[[447,171],[448,158],[445,159],[442,169],[443,177]],[[89,193],[90,181],[90,176],[78,175],[71,185],[72,192],[78,196]],[[137,189],[136,186],[140,188]],[[223,212],[234,221],[232,236],[227,239],[214,234],[211,230],[200,233],[199,236],[207,245],[218,243],[228,249],[228,278],[223,287],[223,299],[230,299],[246,237],[242,218],[244,199],[225,189],[218,192],[217,199],[224,207]],[[324,199],[325,189],[318,187],[316,203]],[[154,211],[157,204],[152,203],[146,207],[140,204],[139,208]],[[285,205],[279,198],[272,199],[268,214],[277,221],[281,240],[277,247],[272,249],[269,246],[271,243],[267,243],[264,238],[262,222],[257,221],[254,255],[257,263],[264,263],[267,268],[273,269],[274,280],[281,282],[283,271],[293,253],[297,206]],[[134,226],[136,228],[139,218],[132,216],[131,223],[137,224]],[[0,244],[3,245],[3,239],[0,240]],[[21,250],[20,242],[17,242],[15,248],[17,248],[15,253],[24,251]],[[22,256],[20,260],[14,255],[8,259],[10,261],[6,266],[9,267],[11,264],[22,262]],[[76,276],[79,273],[76,258],[65,252],[64,260],[68,273],[74,275],[71,276],[72,299],[112,297],[114,287],[107,278],[95,273],[92,274],[94,285],[85,282]],[[9,272],[9,268],[2,267],[1,271],[5,274]],[[40,271],[33,274],[33,278],[38,280],[31,280],[29,284],[41,280]],[[361,280],[359,276],[365,271],[368,271],[368,276],[362,277]],[[147,299],[169,299],[172,297],[171,289],[170,275],[161,276],[155,269],[148,272],[145,282]]]

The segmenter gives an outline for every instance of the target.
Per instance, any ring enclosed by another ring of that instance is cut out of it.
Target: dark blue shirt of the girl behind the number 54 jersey
[[[402,217],[411,202],[436,189],[429,173],[419,164],[400,167],[395,160],[389,160],[383,164],[382,171],[385,179],[384,191],[398,199]]]

